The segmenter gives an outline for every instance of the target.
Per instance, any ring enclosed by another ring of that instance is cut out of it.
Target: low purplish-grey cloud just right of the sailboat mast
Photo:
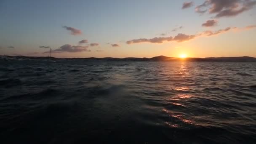
[[[89,46],[81,46],[81,45],[62,45],[60,48],[53,50],[53,53],[61,53],[61,52],[69,52],[69,53],[76,53],[76,52],[83,52],[83,51],[90,51],[88,50]],[[46,51],[44,53],[49,53]]]

